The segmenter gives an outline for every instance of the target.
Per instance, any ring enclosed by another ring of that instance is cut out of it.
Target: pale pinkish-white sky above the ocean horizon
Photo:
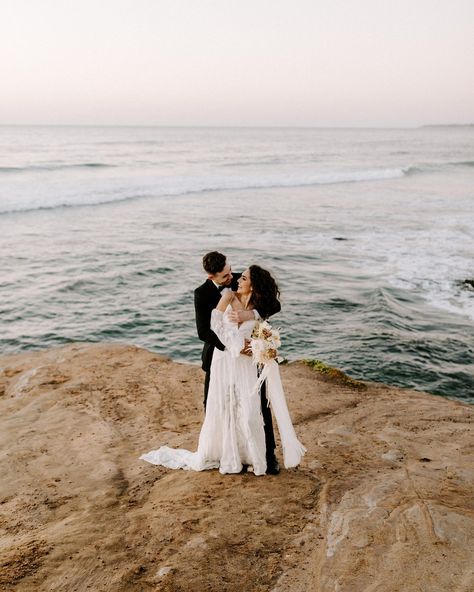
[[[0,124],[474,123],[474,0],[0,0]]]

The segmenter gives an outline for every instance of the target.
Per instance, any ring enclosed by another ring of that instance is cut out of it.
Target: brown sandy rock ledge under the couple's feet
[[[0,590],[472,592],[474,407],[281,372],[308,452],[255,477],[139,460],[196,448],[197,366],[110,344],[0,358]]]

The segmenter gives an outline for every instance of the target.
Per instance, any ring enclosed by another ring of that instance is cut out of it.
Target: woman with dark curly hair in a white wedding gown
[[[259,385],[266,380],[267,398],[275,415],[283,448],[286,468],[300,463],[306,449],[299,442],[291,423],[280,380],[278,364],[265,364],[259,377],[257,365],[248,351],[256,321],[233,321],[233,311],[257,309],[275,310],[278,287],[270,273],[251,265],[238,280],[238,289],[222,292],[212,311],[211,329],[225,350],[216,348],[212,358],[211,379],[206,415],[199,435],[196,452],[162,446],[143,454],[140,459],[170,469],[204,471],[218,468],[221,473],[240,473],[247,465],[255,475],[266,471],[265,432],[261,411]]]

